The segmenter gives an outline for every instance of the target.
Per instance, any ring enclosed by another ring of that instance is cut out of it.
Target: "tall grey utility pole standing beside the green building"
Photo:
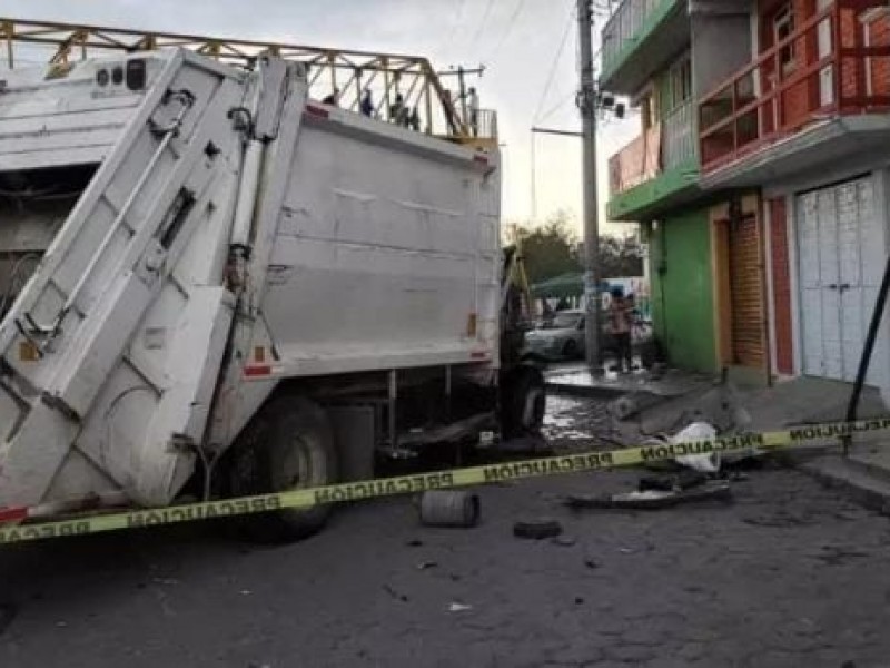
[[[596,88],[593,82],[591,0],[577,0],[578,47],[581,51],[581,110],[584,180],[584,296],[586,323],[584,343],[591,373],[602,373],[600,355],[600,229],[596,203]]]

